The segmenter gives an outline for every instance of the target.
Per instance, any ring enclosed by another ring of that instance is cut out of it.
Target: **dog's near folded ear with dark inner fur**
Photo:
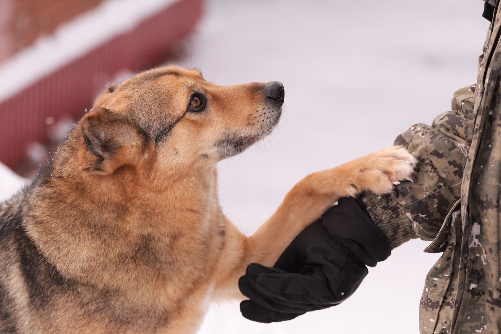
[[[108,175],[123,165],[140,162],[147,136],[140,129],[117,119],[112,111],[98,107],[81,121],[80,170]]]

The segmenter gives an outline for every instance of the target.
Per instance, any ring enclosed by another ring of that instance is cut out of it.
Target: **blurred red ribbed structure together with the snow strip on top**
[[[162,61],[192,30],[202,0],[108,0],[0,65],[0,159],[19,164],[47,119],[79,119],[124,69]]]

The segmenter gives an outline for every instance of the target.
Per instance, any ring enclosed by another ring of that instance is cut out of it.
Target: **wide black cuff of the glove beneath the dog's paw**
[[[344,244],[365,265],[375,266],[391,254],[388,239],[370,219],[363,203],[351,197],[322,215],[322,225],[329,236]]]

